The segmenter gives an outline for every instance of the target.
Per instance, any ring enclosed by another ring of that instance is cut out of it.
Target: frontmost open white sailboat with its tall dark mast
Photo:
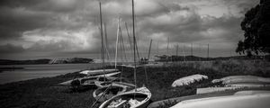
[[[136,81],[136,48],[135,48],[135,28],[134,28],[134,1],[132,0],[132,23],[133,23],[133,49],[134,49],[134,81],[135,89],[112,96],[111,99],[102,103],[99,108],[145,108],[147,107],[149,100],[152,96],[147,87],[142,86],[137,88]]]

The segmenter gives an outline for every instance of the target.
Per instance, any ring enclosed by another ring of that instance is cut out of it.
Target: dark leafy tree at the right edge
[[[270,0],[261,0],[260,4],[247,11],[241,29],[245,31],[245,39],[238,41],[236,52],[247,56],[269,53]]]

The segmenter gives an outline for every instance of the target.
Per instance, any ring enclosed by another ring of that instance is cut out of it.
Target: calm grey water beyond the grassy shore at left
[[[0,84],[23,81],[33,78],[65,75],[101,66],[98,63],[93,64],[46,64],[46,65],[13,65],[0,67],[24,67],[14,71],[4,71],[0,73]]]

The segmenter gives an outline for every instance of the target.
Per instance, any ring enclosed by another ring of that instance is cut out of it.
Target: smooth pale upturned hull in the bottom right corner
[[[171,108],[269,108],[269,91],[241,91],[233,95],[182,101]]]

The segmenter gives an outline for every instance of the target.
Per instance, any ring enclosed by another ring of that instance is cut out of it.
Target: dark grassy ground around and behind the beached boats
[[[146,85],[152,93],[152,102],[172,97],[195,94],[197,87],[213,86],[211,80],[223,76],[254,75],[270,77],[270,64],[266,61],[227,60],[167,63],[163,67],[139,67],[138,86]],[[133,69],[122,68],[122,76],[134,82]],[[147,76],[145,76],[147,73]],[[175,79],[182,76],[202,74],[208,80],[193,85],[171,87]],[[72,79],[78,72],[55,77],[45,77],[0,85],[2,108],[88,108],[94,103],[94,89],[71,91],[56,84]],[[147,78],[146,78],[147,77]],[[98,106],[98,104],[96,105]]]

